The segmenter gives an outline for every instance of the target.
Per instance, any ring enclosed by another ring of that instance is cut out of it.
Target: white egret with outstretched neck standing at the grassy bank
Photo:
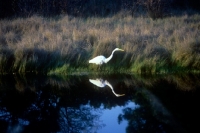
[[[110,61],[112,59],[115,51],[124,51],[124,50],[120,49],[120,48],[115,48],[112,51],[112,54],[108,58],[104,57],[103,55],[100,55],[100,56],[97,56],[97,57],[89,60],[89,63],[94,63],[94,64],[97,64],[97,65],[102,65],[104,63],[107,63],[108,61]]]

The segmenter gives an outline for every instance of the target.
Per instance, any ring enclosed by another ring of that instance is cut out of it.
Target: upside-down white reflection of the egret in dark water
[[[112,85],[111,85],[107,80],[103,80],[103,79],[99,78],[99,79],[89,79],[89,81],[90,81],[92,84],[94,84],[94,85],[96,85],[96,86],[98,86],[98,87],[101,87],[101,88],[105,87],[106,85],[109,86],[110,89],[112,90],[113,94],[114,94],[115,96],[117,96],[117,97],[120,97],[120,96],[124,96],[124,95],[125,95],[125,94],[117,94],[117,93],[115,93],[115,91],[114,91]]]

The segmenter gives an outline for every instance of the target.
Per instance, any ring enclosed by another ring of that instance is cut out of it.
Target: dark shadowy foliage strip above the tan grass
[[[55,16],[107,16],[120,11],[145,13],[160,18],[172,9],[200,9],[197,0],[0,0],[0,18],[28,17],[33,14]]]

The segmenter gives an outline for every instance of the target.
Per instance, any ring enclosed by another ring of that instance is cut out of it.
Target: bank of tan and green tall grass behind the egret
[[[88,60],[113,59],[102,71],[166,73],[200,70],[200,15],[164,19],[59,16],[0,20],[0,73],[97,71]]]

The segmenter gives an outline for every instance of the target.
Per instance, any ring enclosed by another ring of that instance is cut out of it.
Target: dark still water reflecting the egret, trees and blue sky
[[[1,133],[193,133],[199,75],[0,76]]]

